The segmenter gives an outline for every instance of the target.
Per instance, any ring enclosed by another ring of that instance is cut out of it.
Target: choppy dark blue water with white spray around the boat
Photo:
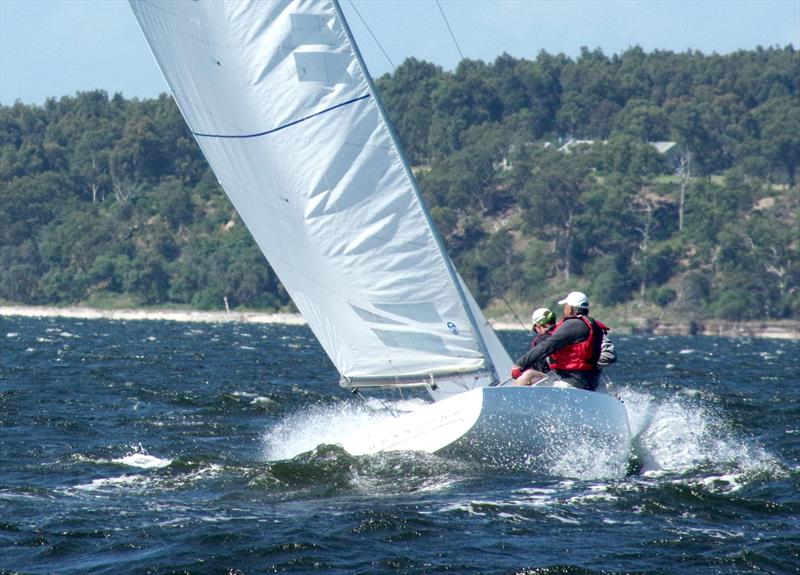
[[[800,572],[800,343],[616,341],[630,473],[532,475],[349,456],[304,327],[0,318],[0,572]]]

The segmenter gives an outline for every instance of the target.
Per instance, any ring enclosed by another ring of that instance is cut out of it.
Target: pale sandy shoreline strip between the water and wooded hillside
[[[90,307],[50,307],[0,305],[0,317],[62,317],[72,319],[107,319],[116,321],[176,321],[200,323],[254,323],[306,325],[298,313],[259,311],[197,311],[184,309],[98,309]],[[522,327],[508,318],[489,319],[496,330],[521,331]],[[724,337],[757,337],[800,340],[800,320],[724,321],[718,319],[659,322],[642,318],[633,326],[614,330],[619,334],[703,335]]]

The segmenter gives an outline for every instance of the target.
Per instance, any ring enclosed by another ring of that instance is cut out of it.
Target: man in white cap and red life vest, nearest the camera
[[[564,319],[556,324],[550,337],[517,359],[511,375],[531,369],[549,357],[549,367],[559,379],[574,387],[594,391],[600,376],[598,361],[608,327],[589,317],[589,298],[582,292],[570,292],[558,303],[564,305]],[[603,350],[606,364],[616,361],[613,346],[608,349],[610,343],[608,340]]]

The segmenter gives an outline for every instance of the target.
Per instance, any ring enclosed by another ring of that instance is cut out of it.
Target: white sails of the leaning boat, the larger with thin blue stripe
[[[348,382],[486,385],[510,364],[484,341],[335,2],[130,3],[220,184]]]

